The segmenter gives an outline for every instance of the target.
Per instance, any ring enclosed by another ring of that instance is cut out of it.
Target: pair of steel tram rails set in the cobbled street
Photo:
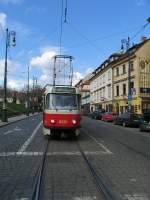
[[[45,145],[45,150],[41,159],[41,163],[36,174],[33,192],[32,192],[30,200],[41,200],[41,190],[42,190],[41,185],[42,185],[44,170],[46,170],[46,156],[48,156],[47,153],[48,153],[49,144],[50,144],[50,140],[47,140],[47,143]],[[103,198],[106,200],[120,200],[121,199],[120,196],[112,190],[108,181],[106,181],[103,178],[103,176],[101,176],[96,171],[95,167],[93,166],[92,162],[89,160],[87,154],[82,149],[80,142],[78,140],[76,141],[76,145],[81,157],[84,160],[84,163],[87,166],[86,168],[88,169],[89,174],[94,178],[95,186],[98,190],[99,195],[103,196]]]

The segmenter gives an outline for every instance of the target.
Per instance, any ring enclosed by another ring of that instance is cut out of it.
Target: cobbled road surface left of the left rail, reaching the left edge
[[[27,141],[41,121],[33,116],[0,128],[0,199],[29,198],[41,156],[26,152]],[[37,130],[37,129],[36,129]],[[41,134],[41,127],[37,134]],[[26,144],[26,145],[24,145]],[[43,142],[44,145],[44,142]],[[23,147],[23,148],[22,148]],[[41,145],[41,150],[44,146]]]

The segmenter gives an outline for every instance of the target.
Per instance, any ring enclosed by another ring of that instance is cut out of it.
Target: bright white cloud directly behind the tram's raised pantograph
[[[41,76],[39,77],[38,82],[42,85],[52,83],[52,76],[53,76],[53,65],[54,60],[52,59],[56,54],[58,54],[59,49],[58,47],[44,47],[40,49],[41,54],[36,57],[32,57],[30,60],[30,66],[32,69],[36,68],[41,71]],[[60,61],[62,62],[62,61]],[[58,61],[59,63],[59,61]],[[57,65],[57,64],[56,64]],[[58,67],[59,68],[59,67]],[[79,80],[83,79],[87,74],[91,73],[93,68],[89,67],[84,73],[80,71],[74,71],[73,73],[73,85],[75,85]],[[62,67],[60,72],[58,70],[56,82],[58,84],[67,84],[67,69],[64,69],[64,63],[62,62]],[[66,75],[66,79],[64,79],[64,74]],[[68,79],[69,80],[69,79]]]

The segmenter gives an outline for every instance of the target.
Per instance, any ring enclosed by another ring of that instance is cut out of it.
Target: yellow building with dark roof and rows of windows
[[[122,53],[112,63],[112,69],[114,112],[123,113],[128,110],[129,77],[132,111],[143,114],[144,110],[150,109],[150,39]]]

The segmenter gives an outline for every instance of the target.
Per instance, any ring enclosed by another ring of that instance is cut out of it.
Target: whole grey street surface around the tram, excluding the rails
[[[46,146],[41,115],[0,128],[0,199],[31,199]],[[108,187],[122,199],[150,199],[150,133],[82,119],[81,135],[50,141],[42,200],[104,199],[77,142]]]

